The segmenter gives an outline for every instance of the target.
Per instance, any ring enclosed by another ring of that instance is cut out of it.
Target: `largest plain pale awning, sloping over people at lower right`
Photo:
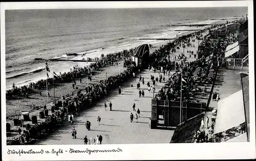
[[[223,132],[245,122],[242,90],[219,100],[215,133]]]

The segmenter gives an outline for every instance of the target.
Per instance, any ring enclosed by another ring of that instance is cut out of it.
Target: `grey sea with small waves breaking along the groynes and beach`
[[[98,57],[101,53],[144,43],[159,44],[163,41],[154,39],[172,39],[182,34],[164,25],[210,23],[218,18],[245,16],[247,8],[7,10],[5,14],[6,89],[9,89],[13,83],[21,86],[46,78],[45,62],[35,58],[62,57],[70,52]],[[90,63],[48,64],[58,74],[70,71],[75,65],[83,67]]]

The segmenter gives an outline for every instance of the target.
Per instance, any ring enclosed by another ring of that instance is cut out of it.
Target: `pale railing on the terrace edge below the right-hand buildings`
[[[249,59],[228,58],[226,59],[226,67],[228,69],[248,70]]]

